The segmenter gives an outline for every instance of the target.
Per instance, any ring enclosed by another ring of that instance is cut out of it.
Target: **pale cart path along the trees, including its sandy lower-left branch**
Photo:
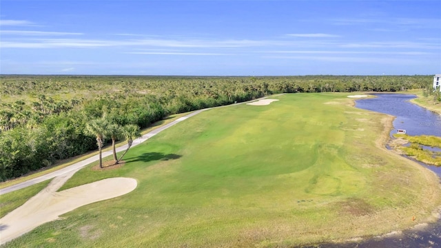
[[[263,97],[261,99],[265,98],[267,97]],[[253,101],[259,101],[261,99],[256,99]],[[253,101],[247,101],[244,103]],[[159,132],[162,132],[163,130],[172,127],[173,125],[176,125],[189,117],[209,109],[211,108],[197,110],[191,114],[178,118],[171,123],[163,125],[162,127],[158,127],[156,130],[144,134],[141,138],[136,138],[136,140],[134,140],[132,143],[132,146],[139,145]],[[125,149],[127,149],[127,145],[118,147],[116,152],[121,152]],[[102,155],[103,157],[110,156],[112,155],[112,152],[103,152]],[[31,231],[39,225],[52,220],[57,220],[59,216],[67,213],[68,211],[72,211],[83,205],[95,203],[100,200],[122,196],[123,194],[132,192],[132,190],[136,188],[137,182],[133,178],[107,178],[94,183],[88,183],[71,189],[66,189],[62,192],[57,192],[57,189],[63,186],[64,183],[75,174],[75,172],[85,165],[98,161],[98,159],[99,155],[95,155],[85,159],[84,161],[74,163],[73,165],[69,165],[68,167],[64,167],[63,169],[59,169],[55,172],[27,180],[23,183],[18,183],[17,185],[0,189],[0,195],[2,195],[43,182],[44,180],[54,178],[54,180],[52,180],[52,182],[50,182],[45,189],[0,219],[0,245],[3,245],[8,241],[17,238],[28,231]]]

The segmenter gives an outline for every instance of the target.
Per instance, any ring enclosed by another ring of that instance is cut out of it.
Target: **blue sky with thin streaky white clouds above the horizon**
[[[1,74],[441,73],[441,1],[0,3]]]

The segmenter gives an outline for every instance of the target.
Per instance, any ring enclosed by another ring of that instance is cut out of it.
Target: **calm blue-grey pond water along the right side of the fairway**
[[[395,134],[398,129],[404,129],[409,135],[441,136],[441,116],[410,103],[409,100],[416,96],[407,94],[374,95],[378,97],[357,100],[356,107],[396,116],[395,121],[393,121],[394,130],[391,131],[391,134]],[[441,176],[441,167],[420,164]],[[441,220],[429,224],[422,231],[406,230],[402,234],[387,238],[369,238],[360,242],[348,242],[338,245],[320,244],[311,247],[441,247]]]

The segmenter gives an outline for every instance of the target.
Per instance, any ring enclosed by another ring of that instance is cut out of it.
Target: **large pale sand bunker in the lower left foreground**
[[[65,178],[55,178],[39,194],[0,219],[0,243],[4,244],[35,227],[83,205],[127,194],[136,188],[133,178],[107,178],[94,183],[55,192]]]

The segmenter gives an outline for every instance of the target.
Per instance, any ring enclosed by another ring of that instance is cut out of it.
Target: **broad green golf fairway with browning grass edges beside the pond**
[[[85,167],[63,189],[114,176],[139,185],[8,246],[292,247],[408,228],[441,204],[434,174],[381,147],[390,116],[347,94],[275,98],[188,118],[119,169]]]

